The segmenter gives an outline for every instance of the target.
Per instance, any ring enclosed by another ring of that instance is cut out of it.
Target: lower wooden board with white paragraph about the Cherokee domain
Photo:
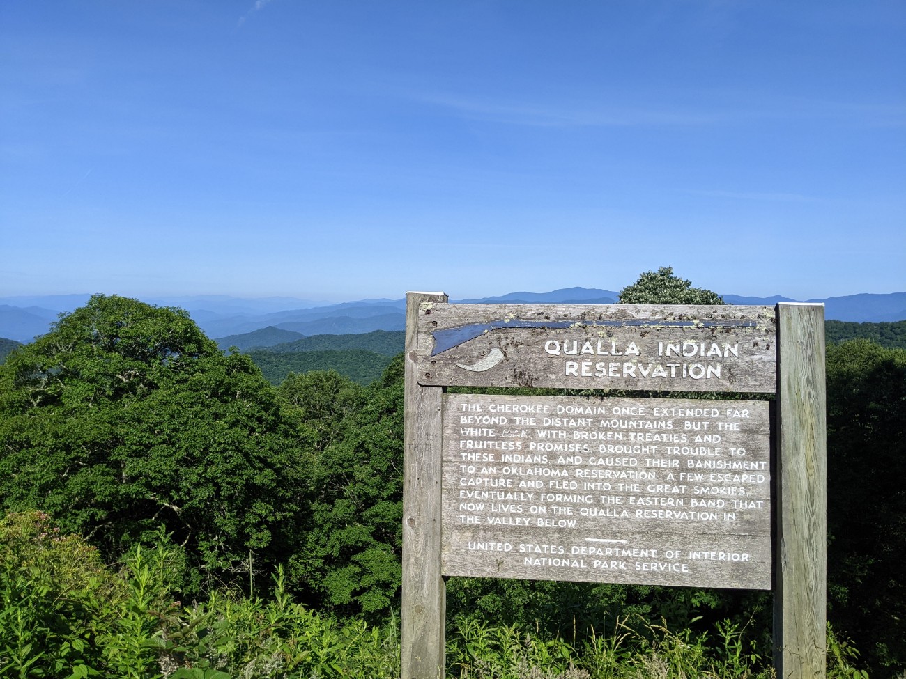
[[[770,589],[768,411],[446,395],[443,573]]]

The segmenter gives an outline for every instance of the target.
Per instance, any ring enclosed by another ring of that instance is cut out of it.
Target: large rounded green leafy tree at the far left
[[[185,311],[117,296],[0,367],[0,441],[5,507],[51,512],[109,557],[163,524],[196,580],[278,559],[304,501],[304,439],[251,360]]]

